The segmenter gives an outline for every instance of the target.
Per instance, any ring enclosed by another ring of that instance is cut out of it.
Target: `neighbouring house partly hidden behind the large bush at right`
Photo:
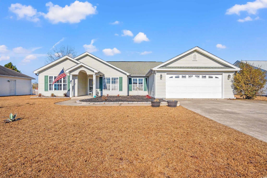
[[[234,65],[238,67],[240,62],[248,62],[248,64],[253,66],[254,68],[267,72],[267,61],[236,61]],[[267,75],[265,75],[265,79],[267,79]],[[263,96],[267,96],[267,82],[264,85],[264,88],[261,89],[261,91],[263,92]]]

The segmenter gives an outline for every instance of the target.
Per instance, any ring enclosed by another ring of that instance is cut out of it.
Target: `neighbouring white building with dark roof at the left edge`
[[[30,95],[33,77],[0,65],[0,96]]]

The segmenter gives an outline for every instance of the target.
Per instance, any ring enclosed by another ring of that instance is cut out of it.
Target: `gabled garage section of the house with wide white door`
[[[231,79],[238,70],[196,46],[155,66],[147,75],[149,82],[153,78],[155,98],[234,98]]]

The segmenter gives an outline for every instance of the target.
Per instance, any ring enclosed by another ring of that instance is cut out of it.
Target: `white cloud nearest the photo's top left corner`
[[[42,13],[37,12],[32,6],[26,6],[20,3],[11,4],[9,10],[17,15],[17,19],[26,19],[32,22],[40,21],[38,17],[42,15]]]

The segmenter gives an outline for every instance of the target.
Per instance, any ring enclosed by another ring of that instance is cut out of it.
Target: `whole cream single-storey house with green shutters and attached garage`
[[[52,85],[65,69],[68,77]],[[150,95],[155,98],[233,98],[231,78],[240,70],[195,47],[166,62],[106,62],[88,52],[64,56],[33,73],[39,93],[50,96]],[[70,80],[69,80],[70,79]]]

